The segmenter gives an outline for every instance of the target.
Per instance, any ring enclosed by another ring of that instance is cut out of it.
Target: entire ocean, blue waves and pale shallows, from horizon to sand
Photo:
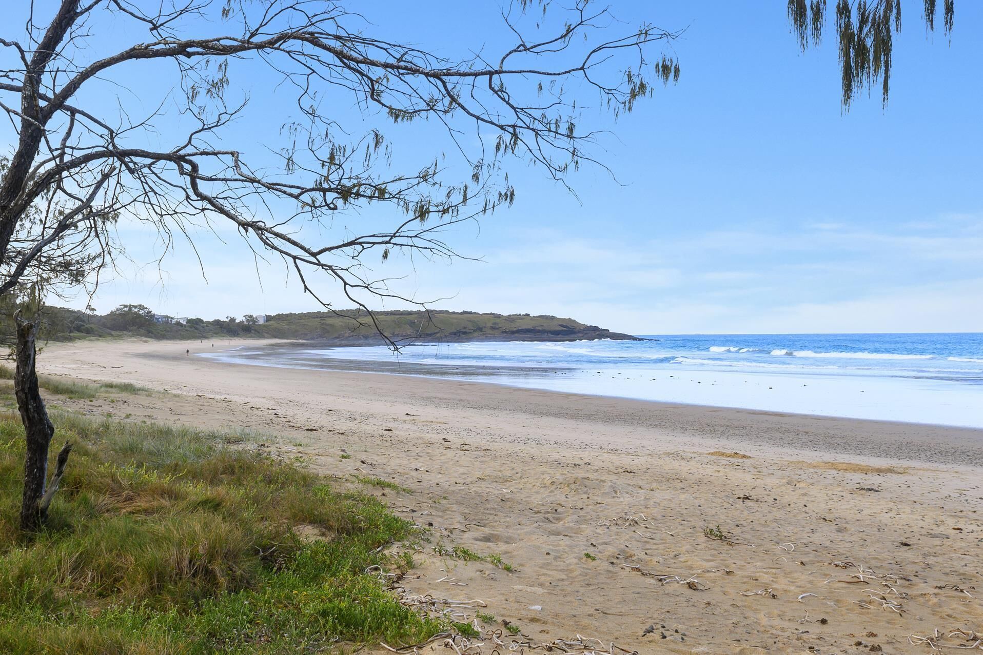
[[[983,333],[244,346],[205,356],[776,412],[983,428]]]

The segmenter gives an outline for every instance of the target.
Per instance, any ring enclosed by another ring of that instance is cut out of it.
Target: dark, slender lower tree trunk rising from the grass
[[[36,355],[34,341],[37,337],[37,324],[16,320],[17,324],[17,372],[14,376],[14,390],[17,394],[18,409],[24,423],[27,441],[27,456],[24,462],[24,497],[21,502],[21,529],[34,532],[44,523],[48,506],[54,492],[58,490],[65,464],[72,447],[65,444],[58,453],[58,465],[51,480],[51,489],[45,494],[48,471],[48,447],[54,436],[55,427],[48,418],[44,400],[37,387],[37,372],[34,368]]]

